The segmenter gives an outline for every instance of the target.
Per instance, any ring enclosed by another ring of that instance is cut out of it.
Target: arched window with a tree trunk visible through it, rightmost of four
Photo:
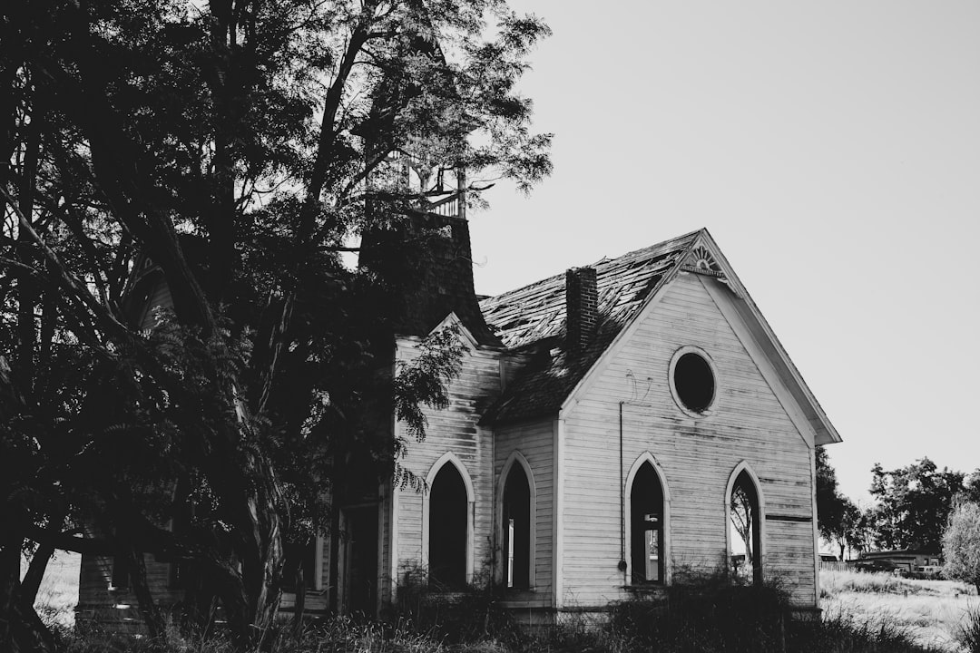
[[[762,583],[762,514],[759,490],[748,469],[735,477],[728,497],[732,572],[754,584]]]

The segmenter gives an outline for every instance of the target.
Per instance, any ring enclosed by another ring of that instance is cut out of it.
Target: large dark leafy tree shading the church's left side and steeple
[[[220,596],[241,636],[265,632],[283,536],[328,528],[342,470],[411,481],[407,443],[365,416],[422,437],[454,369],[450,334],[385,373],[384,306],[439,234],[403,243],[395,278],[341,253],[368,230],[417,236],[400,221],[443,172],[527,188],[549,171],[515,92],[547,28],[503,0],[0,12],[0,647],[46,645],[30,583],[54,546],[128,560],[151,630],[146,552],[196,571],[189,605]],[[396,183],[395,159],[436,173]],[[137,261],[172,296],[152,331]]]

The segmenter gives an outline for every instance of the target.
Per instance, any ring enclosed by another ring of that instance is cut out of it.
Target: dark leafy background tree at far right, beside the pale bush
[[[963,490],[962,472],[939,470],[929,458],[894,469],[871,470],[875,543],[882,548],[939,551],[953,499]]]

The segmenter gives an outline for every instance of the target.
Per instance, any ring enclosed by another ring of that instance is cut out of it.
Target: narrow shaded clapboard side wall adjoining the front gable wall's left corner
[[[532,592],[522,592],[514,597],[512,607],[553,607],[555,588],[553,583],[554,555],[554,479],[555,460],[552,452],[555,442],[555,422],[547,419],[539,422],[529,422],[518,425],[508,425],[497,429],[494,434],[494,478],[497,486],[494,497],[503,495],[503,484],[506,479],[502,476],[504,465],[514,452],[520,453],[531,468],[532,479],[528,482],[534,488],[534,578]],[[517,464],[517,463],[515,463]],[[498,510],[500,506],[498,505]],[[494,521],[497,531],[495,541],[500,551],[503,534],[499,532],[500,524]]]

